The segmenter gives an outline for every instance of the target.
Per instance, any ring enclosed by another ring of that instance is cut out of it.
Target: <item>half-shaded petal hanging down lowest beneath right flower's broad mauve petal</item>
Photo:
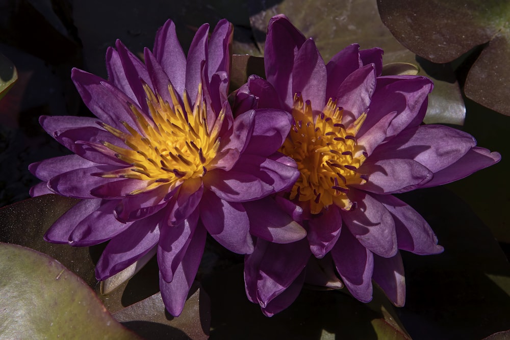
[[[349,228],[342,228],[337,244],[330,251],[335,266],[349,292],[362,302],[372,300],[372,252],[356,240]]]

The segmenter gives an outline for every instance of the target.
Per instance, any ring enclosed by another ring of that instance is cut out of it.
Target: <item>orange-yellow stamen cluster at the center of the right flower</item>
[[[329,99],[314,120],[311,102],[303,103],[300,93],[294,95],[292,127],[280,151],[296,161],[301,174],[290,199],[310,204],[312,214],[333,203],[350,210],[353,203],[347,197],[348,186],[365,182],[365,176],[358,173],[365,154],[356,143],[356,133],[366,114],[346,128],[341,123],[342,113],[336,100]]]

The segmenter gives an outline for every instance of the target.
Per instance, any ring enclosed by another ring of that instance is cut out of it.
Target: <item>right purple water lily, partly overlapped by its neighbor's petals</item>
[[[372,299],[373,280],[402,306],[399,249],[426,255],[443,248],[427,222],[391,194],[463,178],[500,155],[460,130],[420,125],[432,83],[381,76],[379,48],[350,45],[325,64],[314,41],[279,15],[269,22],[264,62],[267,81],[251,76],[236,106],[292,113],[280,151],[296,161],[300,176],[273,204],[308,234],[289,244],[256,241],[245,259],[248,298],[272,316],[305,280],[345,285],[363,302]]]

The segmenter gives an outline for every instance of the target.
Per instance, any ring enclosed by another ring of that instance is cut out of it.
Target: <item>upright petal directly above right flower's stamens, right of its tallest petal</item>
[[[292,70],[292,93],[301,92],[303,100],[311,100],[312,106],[321,110],[326,103],[326,65],[310,38],[302,44],[294,60]]]

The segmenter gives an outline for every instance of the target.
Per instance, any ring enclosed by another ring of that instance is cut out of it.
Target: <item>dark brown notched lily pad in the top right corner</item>
[[[447,63],[489,44],[468,73],[468,97],[510,115],[508,53],[510,3],[506,0],[378,0],[382,21],[404,46],[435,63]]]

